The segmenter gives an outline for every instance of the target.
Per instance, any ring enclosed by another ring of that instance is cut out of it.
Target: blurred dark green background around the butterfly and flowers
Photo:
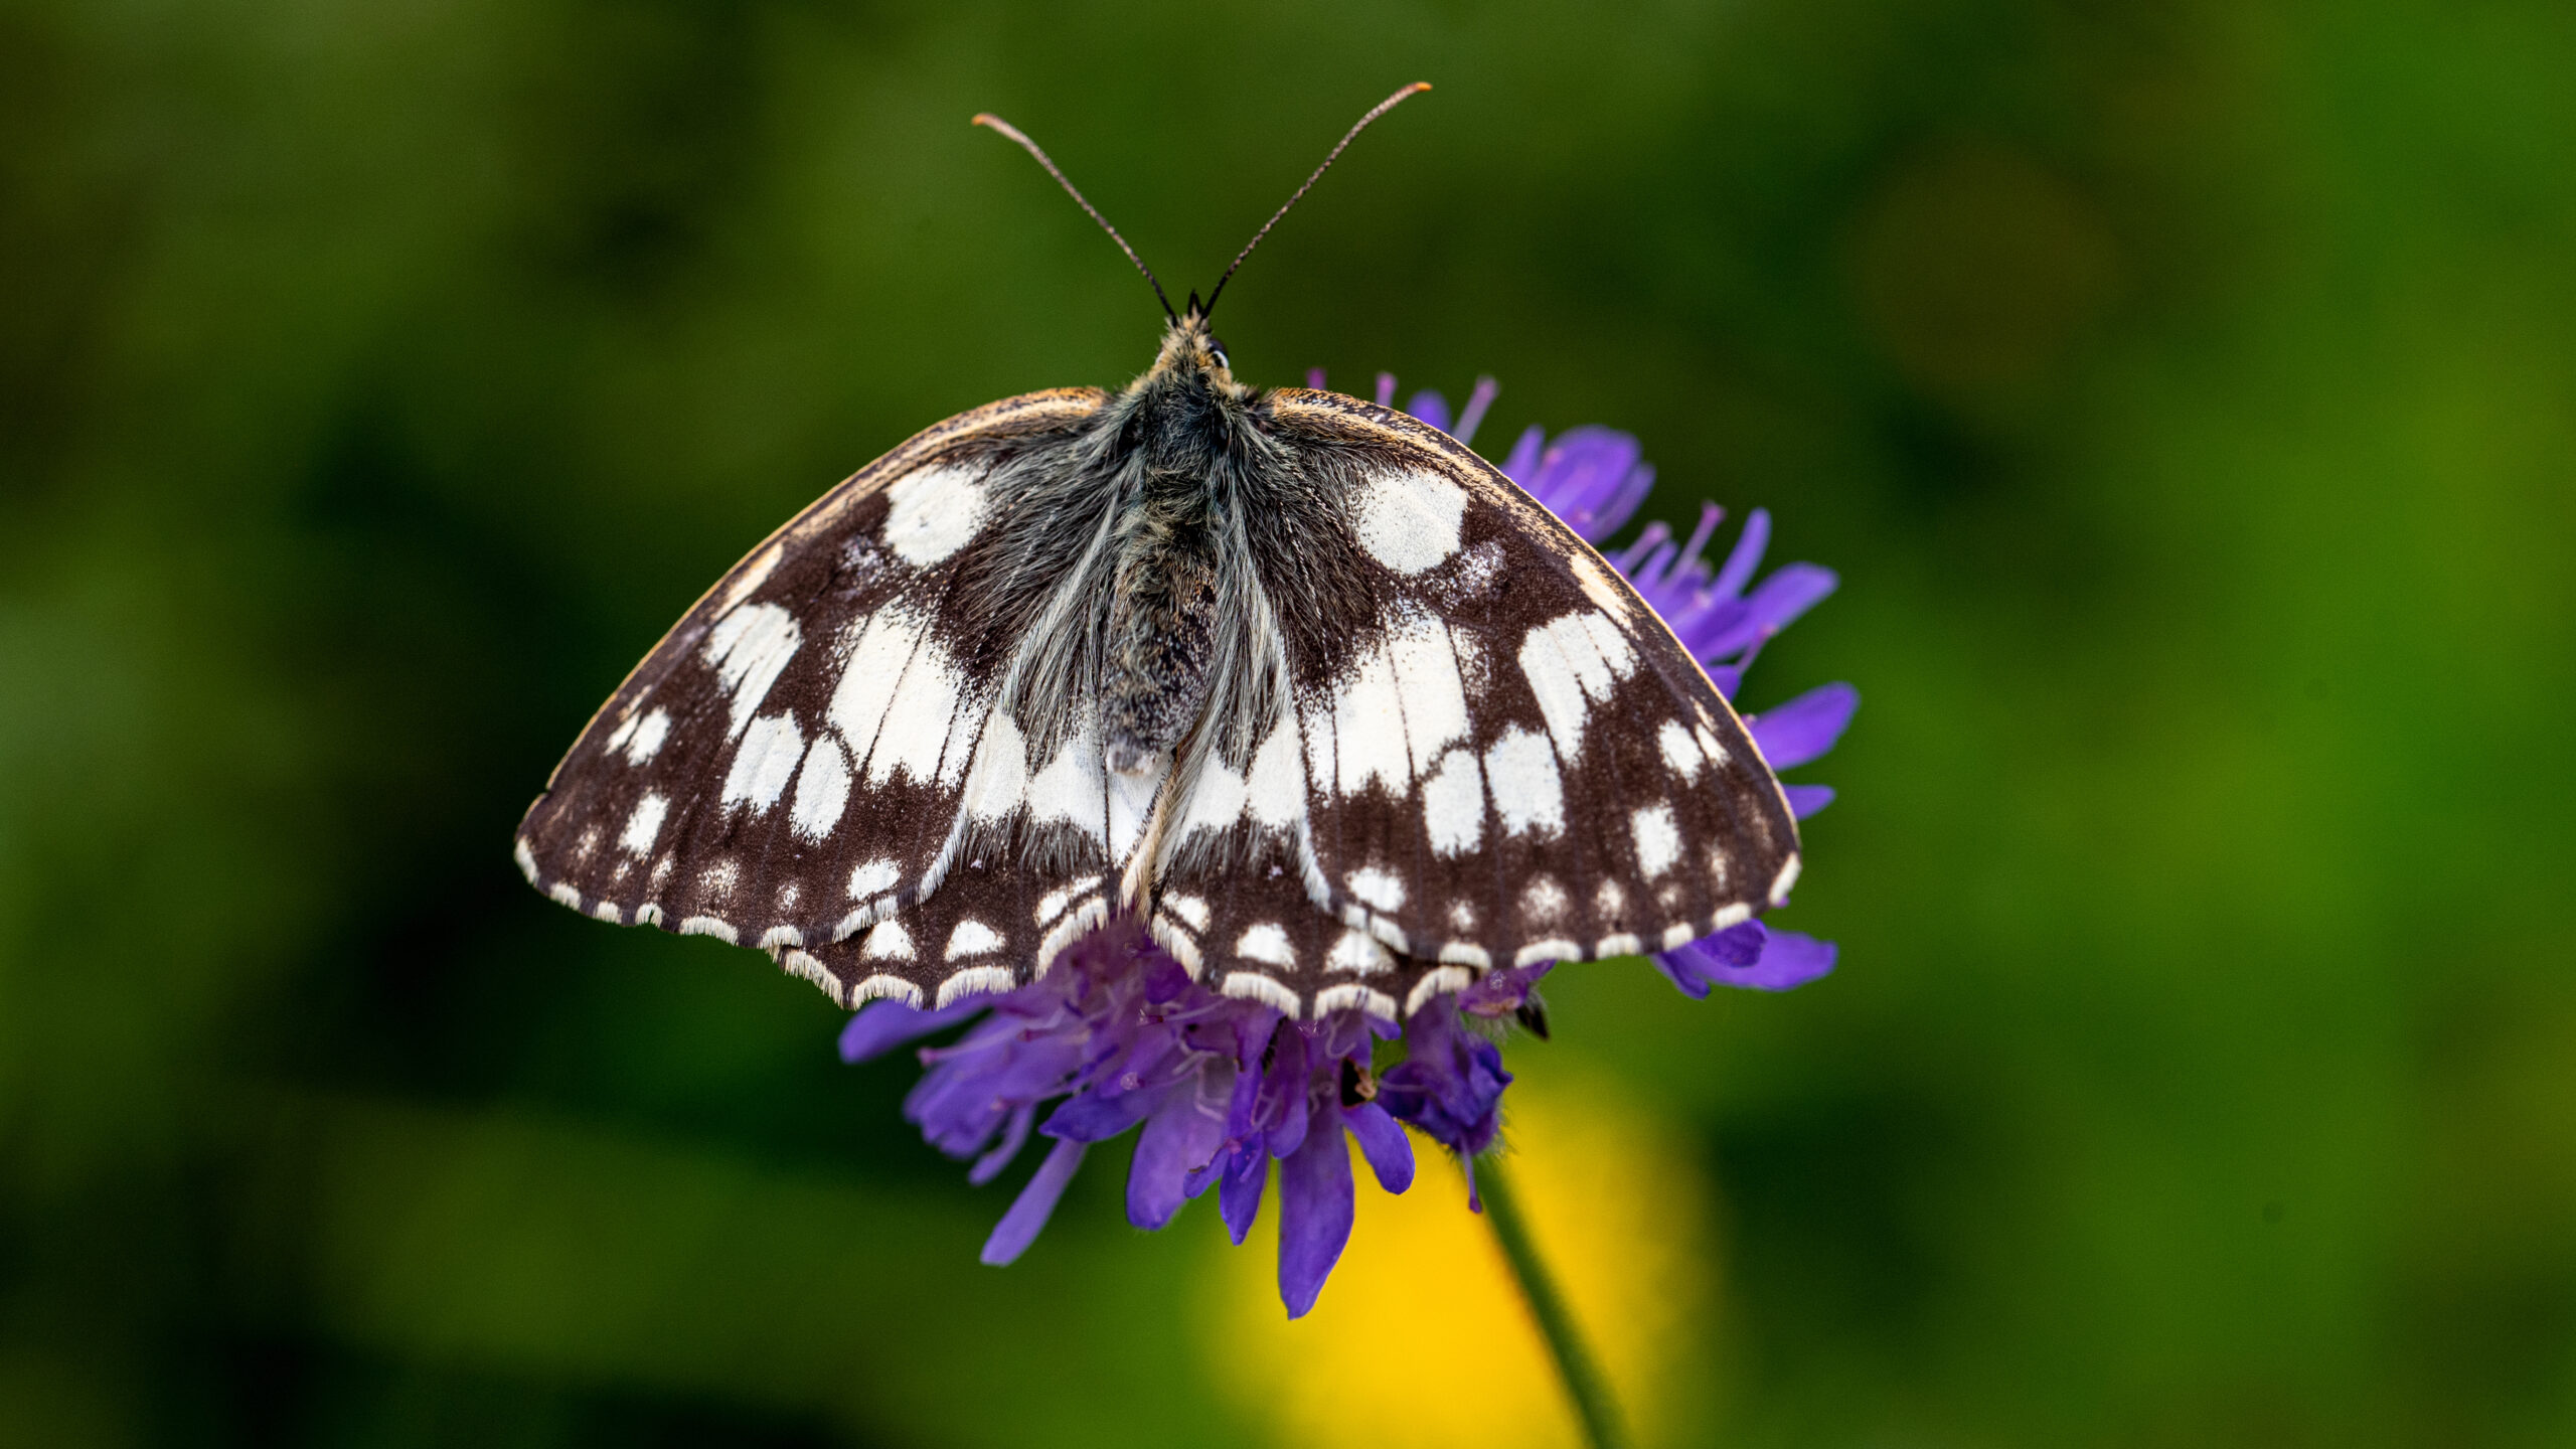
[[[1419,77],[1239,371],[1492,371],[1844,575],[1747,688],[1865,696],[1839,975],[1512,1049],[1713,1186],[1692,1434],[2576,1441],[2568,75],[2478,0],[8,0],[0,1439],[1257,1436],[1206,1209],[979,1269],[909,1065],[507,838],[824,485],[1151,358],[971,111],[1188,289]]]

